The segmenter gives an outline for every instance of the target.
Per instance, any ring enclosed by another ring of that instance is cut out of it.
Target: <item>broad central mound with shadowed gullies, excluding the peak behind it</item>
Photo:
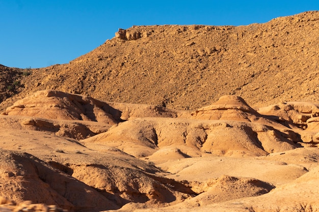
[[[259,124],[143,118],[129,120],[83,142],[87,146],[99,143],[117,147],[138,158],[150,156],[157,147],[165,146],[176,147],[186,157],[201,152],[245,157],[296,148],[293,138],[296,143],[301,141],[293,131],[281,132]]]

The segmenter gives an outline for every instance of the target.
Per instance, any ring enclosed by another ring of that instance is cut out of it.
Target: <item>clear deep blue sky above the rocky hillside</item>
[[[319,10],[319,1],[0,0],[0,64],[65,64],[132,25],[247,25]]]

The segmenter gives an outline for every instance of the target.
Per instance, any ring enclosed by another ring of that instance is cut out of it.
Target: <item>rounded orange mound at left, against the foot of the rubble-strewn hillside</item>
[[[112,109],[108,104],[89,97],[43,90],[17,101],[5,113],[51,119],[89,120],[114,125],[120,121],[120,117],[113,117],[110,114]]]

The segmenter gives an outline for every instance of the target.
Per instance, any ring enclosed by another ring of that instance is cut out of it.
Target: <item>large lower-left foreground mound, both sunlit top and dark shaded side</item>
[[[47,133],[16,133],[1,131],[3,141],[12,142],[1,144],[8,150],[2,150],[0,166],[0,195],[15,202],[32,200],[71,211],[99,211],[128,202],[178,203],[196,195],[188,186],[156,176],[161,170],[119,149],[104,147],[97,152]],[[43,161],[13,149],[26,150]]]

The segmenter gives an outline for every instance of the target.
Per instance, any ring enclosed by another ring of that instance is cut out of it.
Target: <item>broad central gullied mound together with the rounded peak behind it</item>
[[[217,103],[191,114],[199,120],[186,119],[187,113],[181,113],[177,119],[128,120],[83,142],[117,147],[139,158],[152,158],[152,154],[158,157],[161,153],[156,151],[158,147],[170,147],[166,153],[177,153],[176,157],[192,157],[201,152],[232,157],[261,156],[293,149],[301,141],[299,134],[262,117],[236,96],[221,97]]]

